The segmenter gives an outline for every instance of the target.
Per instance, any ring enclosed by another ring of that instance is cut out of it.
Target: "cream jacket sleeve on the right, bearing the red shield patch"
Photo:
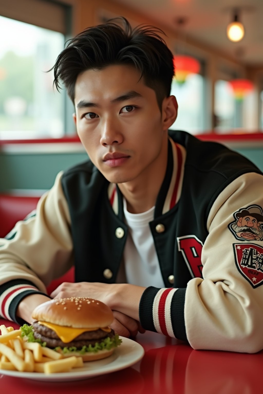
[[[190,280],[185,296],[186,333],[194,349],[263,349],[263,223],[256,240],[238,238],[229,228],[234,214],[251,206],[263,209],[263,176],[256,173],[229,184],[209,213],[203,279]],[[254,267],[251,272],[246,264]]]

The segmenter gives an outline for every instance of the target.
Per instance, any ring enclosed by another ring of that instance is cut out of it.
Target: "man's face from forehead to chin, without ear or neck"
[[[155,91],[134,67],[111,65],[82,72],[75,85],[75,122],[91,161],[110,182],[151,171],[167,125]]]

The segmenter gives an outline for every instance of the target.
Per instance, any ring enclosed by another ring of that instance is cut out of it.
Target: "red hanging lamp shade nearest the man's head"
[[[173,65],[175,68],[175,80],[183,84],[189,74],[198,74],[200,63],[191,56],[173,56]]]

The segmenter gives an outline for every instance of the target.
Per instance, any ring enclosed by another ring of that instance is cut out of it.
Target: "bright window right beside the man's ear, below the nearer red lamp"
[[[200,74],[188,75],[183,84],[173,79],[171,95],[177,99],[178,115],[171,129],[185,130],[191,134],[203,133],[205,130],[204,84],[204,77]]]

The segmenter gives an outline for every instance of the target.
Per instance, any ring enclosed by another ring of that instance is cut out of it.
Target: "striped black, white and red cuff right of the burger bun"
[[[187,341],[185,331],[186,289],[147,287],[142,294],[139,318],[145,330]]]

